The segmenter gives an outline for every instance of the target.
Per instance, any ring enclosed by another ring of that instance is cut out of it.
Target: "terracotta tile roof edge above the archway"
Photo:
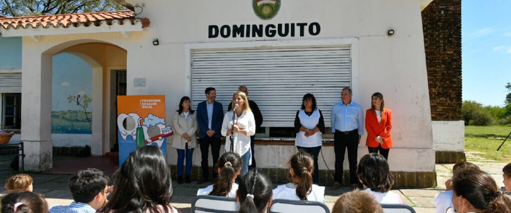
[[[59,14],[59,15],[44,15],[44,16],[22,16],[22,17],[5,17],[0,15],[0,27],[8,30],[10,28],[68,28],[71,25],[77,26],[79,24],[89,26],[101,25],[104,21],[107,25],[112,25],[112,20],[119,20],[119,25],[124,23],[134,24],[138,19],[143,25],[142,28],[149,27],[150,21],[148,18],[136,18],[134,13],[129,10],[125,11],[111,11],[111,12],[96,12],[96,13],[76,13],[76,14]],[[128,20],[129,22],[126,22]],[[93,23],[94,22],[94,23]]]

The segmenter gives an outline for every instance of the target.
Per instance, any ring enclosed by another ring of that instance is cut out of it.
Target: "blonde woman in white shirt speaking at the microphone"
[[[241,156],[243,161],[241,175],[243,175],[248,172],[248,165],[252,164],[250,136],[255,134],[255,120],[250,106],[248,106],[247,95],[242,91],[237,91],[233,94],[233,106],[231,106],[231,109],[231,111],[225,113],[222,123],[222,135],[226,137],[226,152],[230,151],[231,141],[229,136],[233,135],[234,150],[232,152]]]

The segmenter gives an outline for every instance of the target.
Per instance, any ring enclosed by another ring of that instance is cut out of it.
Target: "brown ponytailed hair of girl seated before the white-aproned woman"
[[[309,153],[299,150],[291,156],[288,164],[294,173],[291,180],[293,183],[296,183],[296,196],[298,196],[300,200],[307,200],[307,195],[312,192],[314,159]]]

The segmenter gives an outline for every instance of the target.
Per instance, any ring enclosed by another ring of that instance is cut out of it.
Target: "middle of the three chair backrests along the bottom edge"
[[[324,203],[306,200],[285,200],[275,199],[271,202],[270,213],[285,212],[314,212],[314,213],[330,213],[330,209]]]

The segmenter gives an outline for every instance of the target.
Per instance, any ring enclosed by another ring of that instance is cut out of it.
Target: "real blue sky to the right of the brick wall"
[[[462,0],[463,100],[504,105],[511,82],[511,1]]]

